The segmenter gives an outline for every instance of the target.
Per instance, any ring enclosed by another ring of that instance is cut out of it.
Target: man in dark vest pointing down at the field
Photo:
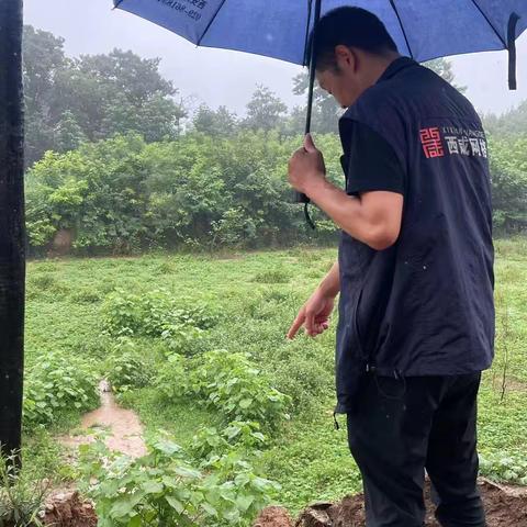
[[[493,357],[486,142],[467,99],[358,8],[324,16],[316,76],[339,122],[346,191],[311,136],[291,184],[341,228],[338,262],[288,334],[328,327],[340,292],[337,412],[362,473],[368,527],[424,522],[425,469],[445,527],[482,527],[476,394]]]

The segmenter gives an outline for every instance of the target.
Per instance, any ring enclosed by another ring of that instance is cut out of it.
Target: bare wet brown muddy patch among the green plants
[[[94,441],[94,434],[101,428],[106,430],[104,442],[111,450],[139,458],[146,453],[143,440],[143,426],[131,410],[121,408],[113,396],[108,381],[99,384],[101,406],[82,417],[82,435],[60,436],[58,440],[66,447],[76,448]]]

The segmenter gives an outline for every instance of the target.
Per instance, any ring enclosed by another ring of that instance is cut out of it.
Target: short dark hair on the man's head
[[[381,20],[361,8],[344,7],[326,13],[318,22],[315,42],[316,69],[327,69],[336,65],[335,47],[344,45],[357,47],[375,55],[397,52]],[[311,57],[313,35],[307,44],[306,58]]]

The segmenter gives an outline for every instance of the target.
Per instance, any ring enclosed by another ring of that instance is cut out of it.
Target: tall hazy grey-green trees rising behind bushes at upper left
[[[186,116],[159,59],[114,49],[69,59],[64,40],[24,30],[26,159],[66,152],[83,141],[136,132],[145,141],[173,138]]]

